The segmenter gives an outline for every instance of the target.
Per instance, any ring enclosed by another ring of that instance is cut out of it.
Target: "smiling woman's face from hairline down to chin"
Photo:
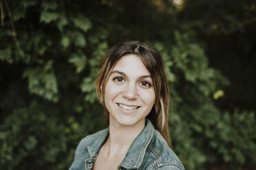
[[[105,106],[110,125],[145,125],[155,102],[151,74],[134,54],[123,56],[105,86]]]

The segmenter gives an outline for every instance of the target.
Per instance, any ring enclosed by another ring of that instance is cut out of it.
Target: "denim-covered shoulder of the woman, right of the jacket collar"
[[[148,145],[149,157],[151,164],[147,167],[148,170],[184,170],[182,162],[174,151],[169,147],[158,130],[154,130],[151,142]]]

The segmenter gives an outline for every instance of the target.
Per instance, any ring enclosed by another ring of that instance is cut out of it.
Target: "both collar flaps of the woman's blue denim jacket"
[[[153,137],[153,132],[154,127],[152,123],[146,119],[144,129],[131,144],[131,147],[127,151],[125,159],[122,160],[120,167],[124,167],[126,169],[138,169],[140,167],[145,156],[147,146]],[[95,142],[91,143],[91,145],[87,147],[91,157],[98,154],[100,147],[107,139],[107,136],[109,136],[109,128],[98,132],[98,134],[99,136],[96,138]]]

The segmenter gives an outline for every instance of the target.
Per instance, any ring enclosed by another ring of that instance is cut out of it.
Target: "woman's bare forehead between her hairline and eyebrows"
[[[151,75],[142,60],[134,54],[122,56],[113,71],[122,71],[127,75]]]

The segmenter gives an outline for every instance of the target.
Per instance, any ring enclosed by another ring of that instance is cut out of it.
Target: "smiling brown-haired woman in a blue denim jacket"
[[[96,91],[108,127],[83,138],[70,170],[184,169],[170,149],[169,87],[156,49],[138,41],[112,47]]]

